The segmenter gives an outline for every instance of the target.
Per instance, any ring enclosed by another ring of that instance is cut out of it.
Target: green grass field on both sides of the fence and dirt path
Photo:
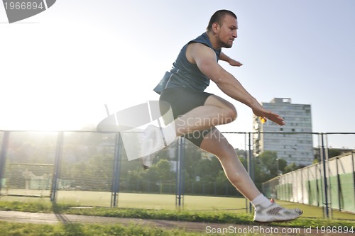
[[[75,215],[96,215],[111,218],[139,218],[151,220],[178,220],[199,222],[203,225],[209,223],[236,224],[244,227],[260,226],[265,229],[278,227],[288,230],[302,230],[305,227],[347,227],[354,230],[355,215],[334,211],[333,218],[348,220],[327,220],[323,218],[322,209],[302,204],[281,202],[280,205],[290,208],[302,208],[304,214],[301,218],[286,223],[267,223],[258,225],[253,223],[253,214],[246,213],[244,198],[224,198],[212,196],[185,196],[183,210],[175,210],[175,195],[165,194],[138,194],[120,193],[119,208],[107,208],[111,202],[110,193],[89,191],[60,191],[58,204],[52,205],[49,198],[31,198],[1,196],[0,210],[18,210],[41,213],[59,213]],[[70,206],[68,206],[70,204]],[[100,206],[99,208],[73,208],[72,206]],[[132,209],[134,208],[134,209]],[[148,210],[151,209],[151,210]],[[219,226],[216,226],[217,229]],[[221,226],[223,227],[223,226]],[[206,227],[207,229],[207,227]],[[111,236],[111,235],[146,235],[146,236],[197,236],[197,235],[244,235],[261,236],[265,233],[209,233],[197,230],[178,228],[154,227],[152,225],[121,225],[107,223],[70,223],[70,224],[28,224],[0,222],[0,235],[6,236]],[[295,232],[295,231],[293,231]],[[267,233],[270,236],[279,236],[280,233]],[[287,235],[287,234],[284,234]],[[310,234],[307,234],[310,235]],[[324,235],[324,234],[323,234]],[[332,235],[332,234],[327,234]]]

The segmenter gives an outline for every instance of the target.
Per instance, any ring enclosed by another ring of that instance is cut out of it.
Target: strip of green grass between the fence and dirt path
[[[307,206],[309,208],[309,206]],[[155,220],[181,220],[204,223],[233,223],[241,225],[253,225],[253,214],[235,213],[233,210],[152,210],[139,208],[73,208],[72,205],[50,203],[34,203],[19,201],[0,201],[0,210],[20,210],[41,213],[65,213],[75,215],[97,215],[114,218],[141,218]],[[348,220],[327,220],[324,218],[310,218],[305,215],[288,223],[270,223],[267,225],[305,227],[305,226],[338,226],[354,225]]]

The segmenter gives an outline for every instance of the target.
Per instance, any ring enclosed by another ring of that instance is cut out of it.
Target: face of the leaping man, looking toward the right
[[[229,48],[233,45],[234,39],[237,37],[236,30],[238,23],[233,16],[226,15],[222,21],[222,26],[219,26],[218,39],[221,47]]]

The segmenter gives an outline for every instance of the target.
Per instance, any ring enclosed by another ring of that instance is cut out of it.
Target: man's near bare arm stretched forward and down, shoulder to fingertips
[[[216,55],[211,48],[200,43],[194,43],[190,45],[190,49],[187,51],[187,58],[195,62],[201,72],[216,83],[224,94],[249,106],[256,116],[269,119],[278,125],[284,125],[283,118],[263,108],[263,106],[244,89],[244,86],[241,85],[238,79],[229,72],[226,72],[226,70],[216,62]]]

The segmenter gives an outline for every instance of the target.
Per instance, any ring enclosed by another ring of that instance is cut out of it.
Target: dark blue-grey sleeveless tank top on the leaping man
[[[159,84],[153,89],[158,94],[164,89],[170,89],[178,86],[186,87],[196,91],[204,91],[204,89],[209,86],[209,79],[200,71],[197,64],[190,63],[186,58],[187,45],[190,43],[202,43],[207,47],[212,48],[216,53],[216,60],[218,62],[221,50],[215,50],[212,47],[212,43],[209,40],[207,33],[202,33],[195,40],[191,40],[187,43],[173,63],[173,68],[170,72],[165,72],[163,79],[160,80]]]

